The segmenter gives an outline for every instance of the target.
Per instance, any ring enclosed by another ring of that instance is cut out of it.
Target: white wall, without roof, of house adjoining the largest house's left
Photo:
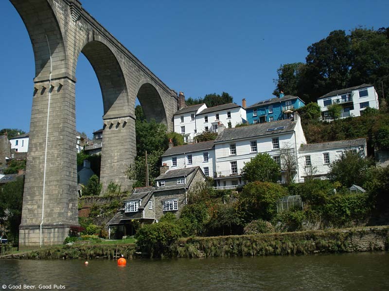
[[[208,153],[208,162],[204,161],[204,154]],[[192,163],[188,163],[188,155],[192,155]],[[173,166],[172,158],[177,158],[177,166]],[[213,172],[215,168],[215,151],[213,148],[195,151],[185,154],[177,154],[171,156],[162,157],[162,165],[166,163],[169,166],[169,170],[177,170],[183,168],[191,168],[191,167],[200,167],[204,174],[206,174],[206,169],[208,167],[209,177],[213,177]]]

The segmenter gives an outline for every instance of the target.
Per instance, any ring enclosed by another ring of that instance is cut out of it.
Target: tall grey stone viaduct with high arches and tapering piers
[[[19,246],[62,243],[78,225],[75,72],[82,52],[103,96],[101,182],[131,186],[135,99],[146,118],[173,130],[177,93],[86,12],[78,0],[10,0],[34,50],[35,78]],[[93,102],[92,97],[90,101]]]

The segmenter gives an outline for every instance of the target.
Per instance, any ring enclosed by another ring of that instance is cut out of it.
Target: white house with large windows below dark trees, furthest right
[[[343,107],[340,118],[361,116],[362,111],[368,107],[379,109],[377,92],[370,84],[332,91],[318,98],[323,120],[331,120],[327,108],[331,104]]]

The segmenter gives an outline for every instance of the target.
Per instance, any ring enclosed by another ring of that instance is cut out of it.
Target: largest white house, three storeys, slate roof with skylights
[[[281,150],[288,150],[297,159],[297,145],[306,144],[306,140],[300,116],[295,114],[294,120],[224,129],[214,144],[216,186],[219,189],[232,189],[245,184],[242,168],[258,153],[268,153],[281,166]],[[295,176],[295,179],[300,177],[299,169],[296,169]]]

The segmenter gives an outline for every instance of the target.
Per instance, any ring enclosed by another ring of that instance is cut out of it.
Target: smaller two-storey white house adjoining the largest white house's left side
[[[215,168],[215,150],[213,141],[173,146],[162,155],[162,166],[169,170],[200,167],[206,177],[212,177]]]

